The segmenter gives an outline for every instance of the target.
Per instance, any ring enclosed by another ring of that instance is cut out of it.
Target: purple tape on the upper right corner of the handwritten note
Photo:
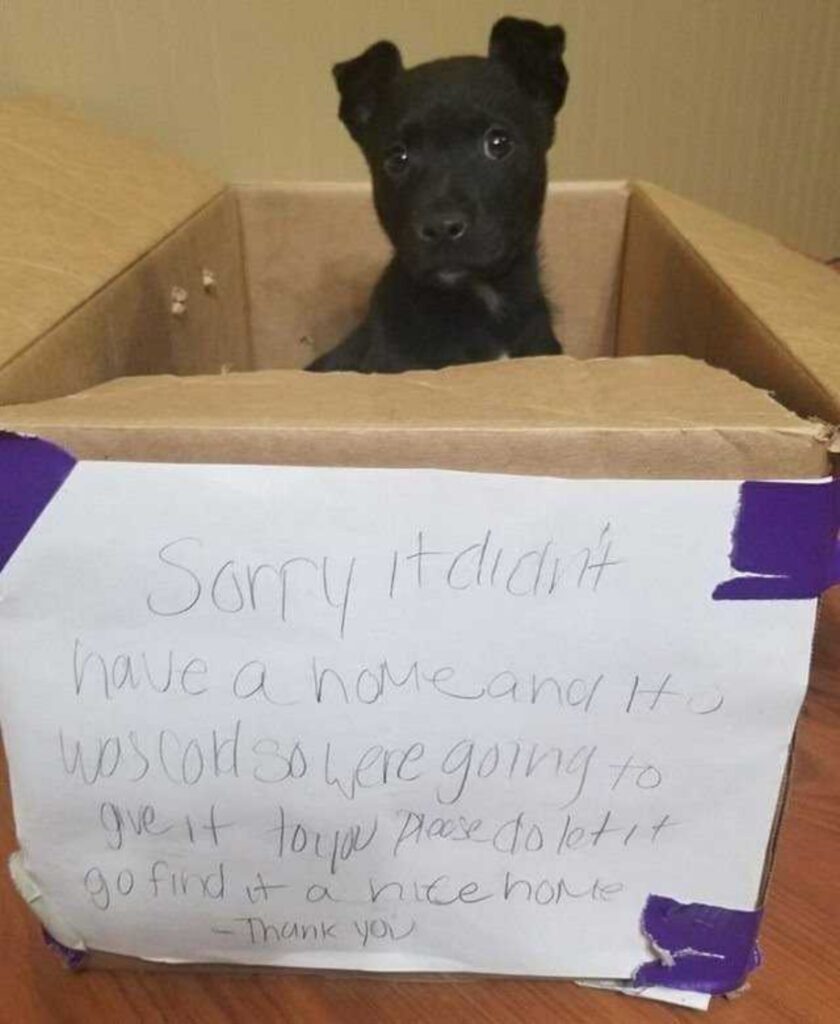
[[[802,600],[840,583],[840,479],[747,481],[732,530],[732,568],[716,601]]]

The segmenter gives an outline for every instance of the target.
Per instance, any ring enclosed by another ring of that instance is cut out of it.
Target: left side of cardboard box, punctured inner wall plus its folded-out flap
[[[0,103],[0,403],[249,365],[238,211],[221,184],[37,100]],[[175,286],[190,295],[181,318]]]

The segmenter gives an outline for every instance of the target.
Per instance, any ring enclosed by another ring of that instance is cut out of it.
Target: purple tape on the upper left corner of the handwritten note
[[[49,441],[0,431],[0,569],[75,465]]]

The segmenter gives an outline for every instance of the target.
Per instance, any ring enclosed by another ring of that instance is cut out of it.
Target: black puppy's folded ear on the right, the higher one
[[[491,59],[506,65],[520,87],[544,104],[552,118],[562,106],[569,88],[564,48],[565,32],[559,25],[503,17],[490,34]]]

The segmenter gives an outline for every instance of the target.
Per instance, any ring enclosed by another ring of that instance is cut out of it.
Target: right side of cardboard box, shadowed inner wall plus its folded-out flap
[[[630,204],[617,351],[680,351],[840,422],[840,279],[663,188]]]

